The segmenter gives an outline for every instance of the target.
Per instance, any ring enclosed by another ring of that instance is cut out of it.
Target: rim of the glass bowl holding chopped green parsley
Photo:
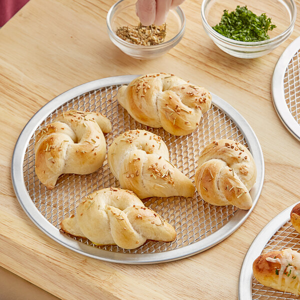
[[[260,41],[241,41],[241,40],[235,40],[229,37],[226,37],[220,33],[218,33],[217,31],[215,31],[214,29],[212,29],[212,27],[208,24],[206,17],[205,17],[205,13],[204,13],[204,6],[205,4],[211,0],[203,0],[201,3],[201,19],[202,19],[202,23],[204,25],[204,27],[208,30],[208,32],[210,34],[212,34],[214,37],[216,37],[217,39],[220,39],[222,41],[226,41],[227,43],[230,43],[232,45],[240,45],[240,46],[245,46],[245,47],[250,47],[250,46],[260,46],[260,45],[267,45],[270,44],[272,42],[276,42],[278,40],[280,40],[281,38],[283,38],[294,26],[295,24],[295,20],[296,20],[296,16],[297,16],[297,7],[296,7],[296,3],[294,0],[290,0],[293,11],[289,11],[291,13],[291,21],[289,23],[289,26],[282,31],[280,34],[269,38],[269,39],[265,39],[265,40],[260,40]]]

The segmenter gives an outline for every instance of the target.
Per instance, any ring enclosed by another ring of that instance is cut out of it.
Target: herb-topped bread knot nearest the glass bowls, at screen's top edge
[[[163,127],[174,135],[194,131],[211,105],[204,87],[189,84],[173,74],[146,74],[119,88],[118,102],[138,122]]]

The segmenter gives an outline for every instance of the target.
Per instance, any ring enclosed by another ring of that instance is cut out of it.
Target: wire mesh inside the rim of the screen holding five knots
[[[193,180],[197,158],[204,145],[214,139],[235,139],[247,146],[244,137],[235,123],[216,106],[203,115],[200,124],[193,133],[184,136],[174,136],[162,128],[152,128],[135,121],[116,100],[120,85],[91,90],[78,97],[70,99],[54,111],[40,124],[31,137],[24,155],[23,174],[27,191],[40,213],[52,225],[60,228],[61,220],[75,213],[75,208],[84,196],[109,186],[119,187],[119,182],[112,175],[107,164],[107,157],[102,167],[87,175],[63,174],[55,187],[47,190],[38,180],[34,172],[34,142],[40,129],[50,123],[57,114],[68,109],[98,111],[106,115],[112,123],[112,131],[105,134],[107,146],[120,133],[129,129],[145,129],[151,131],[166,143],[170,161],[186,176]],[[123,249],[116,245],[99,246],[102,249],[125,253],[153,253],[184,247],[207,237],[226,224],[237,208],[214,206],[201,199],[198,193],[193,197],[180,196],[162,198],[151,197],[143,199],[145,206],[152,208],[174,226],[177,232],[176,240],[163,243],[147,241],[136,249]],[[61,233],[65,234],[65,233]],[[73,237],[80,242],[97,247],[89,240]]]

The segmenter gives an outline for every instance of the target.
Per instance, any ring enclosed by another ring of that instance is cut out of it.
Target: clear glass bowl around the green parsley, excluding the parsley
[[[212,26],[221,20],[223,10],[235,10],[236,6],[247,6],[256,15],[265,13],[277,27],[267,34],[263,41],[239,41],[225,37]],[[224,52],[241,58],[254,58],[265,55],[281,44],[292,32],[296,19],[294,0],[203,0],[201,5],[203,27],[212,41]]]

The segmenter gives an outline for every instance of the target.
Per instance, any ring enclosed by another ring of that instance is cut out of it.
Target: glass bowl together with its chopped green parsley
[[[292,32],[294,0],[203,0],[201,19],[212,41],[226,53],[254,58],[269,53]]]

